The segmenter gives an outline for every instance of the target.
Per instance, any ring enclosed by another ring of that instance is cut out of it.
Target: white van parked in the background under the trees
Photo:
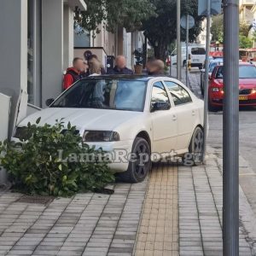
[[[206,61],[206,49],[201,45],[189,45],[189,56],[191,59],[191,67],[203,67]],[[177,49],[171,54],[172,65],[177,65]],[[182,47],[182,64],[186,65],[186,47]]]

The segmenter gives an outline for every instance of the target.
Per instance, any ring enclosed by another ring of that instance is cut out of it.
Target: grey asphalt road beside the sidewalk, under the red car
[[[200,73],[191,73],[191,89],[200,95]],[[256,214],[256,108],[241,108],[240,121],[240,169],[241,189]],[[223,147],[223,113],[209,113],[209,134],[207,143],[213,148]]]

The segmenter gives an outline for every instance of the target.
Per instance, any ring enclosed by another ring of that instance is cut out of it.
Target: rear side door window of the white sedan
[[[171,92],[175,106],[192,102],[189,92],[183,86],[171,81],[165,81],[165,83]]]

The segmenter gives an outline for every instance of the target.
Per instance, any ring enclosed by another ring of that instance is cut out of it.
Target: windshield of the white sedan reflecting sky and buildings
[[[102,108],[143,111],[147,83],[129,79],[84,79],[65,91],[50,108]]]

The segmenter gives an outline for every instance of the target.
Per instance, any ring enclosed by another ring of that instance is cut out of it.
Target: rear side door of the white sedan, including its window
[[[172,95],[174,111],[177,115],[177,151],[186,151],[195,129],[195,122],[199,115],[195,103],[188,90],[181,84],[165,80],[166,87]]]

